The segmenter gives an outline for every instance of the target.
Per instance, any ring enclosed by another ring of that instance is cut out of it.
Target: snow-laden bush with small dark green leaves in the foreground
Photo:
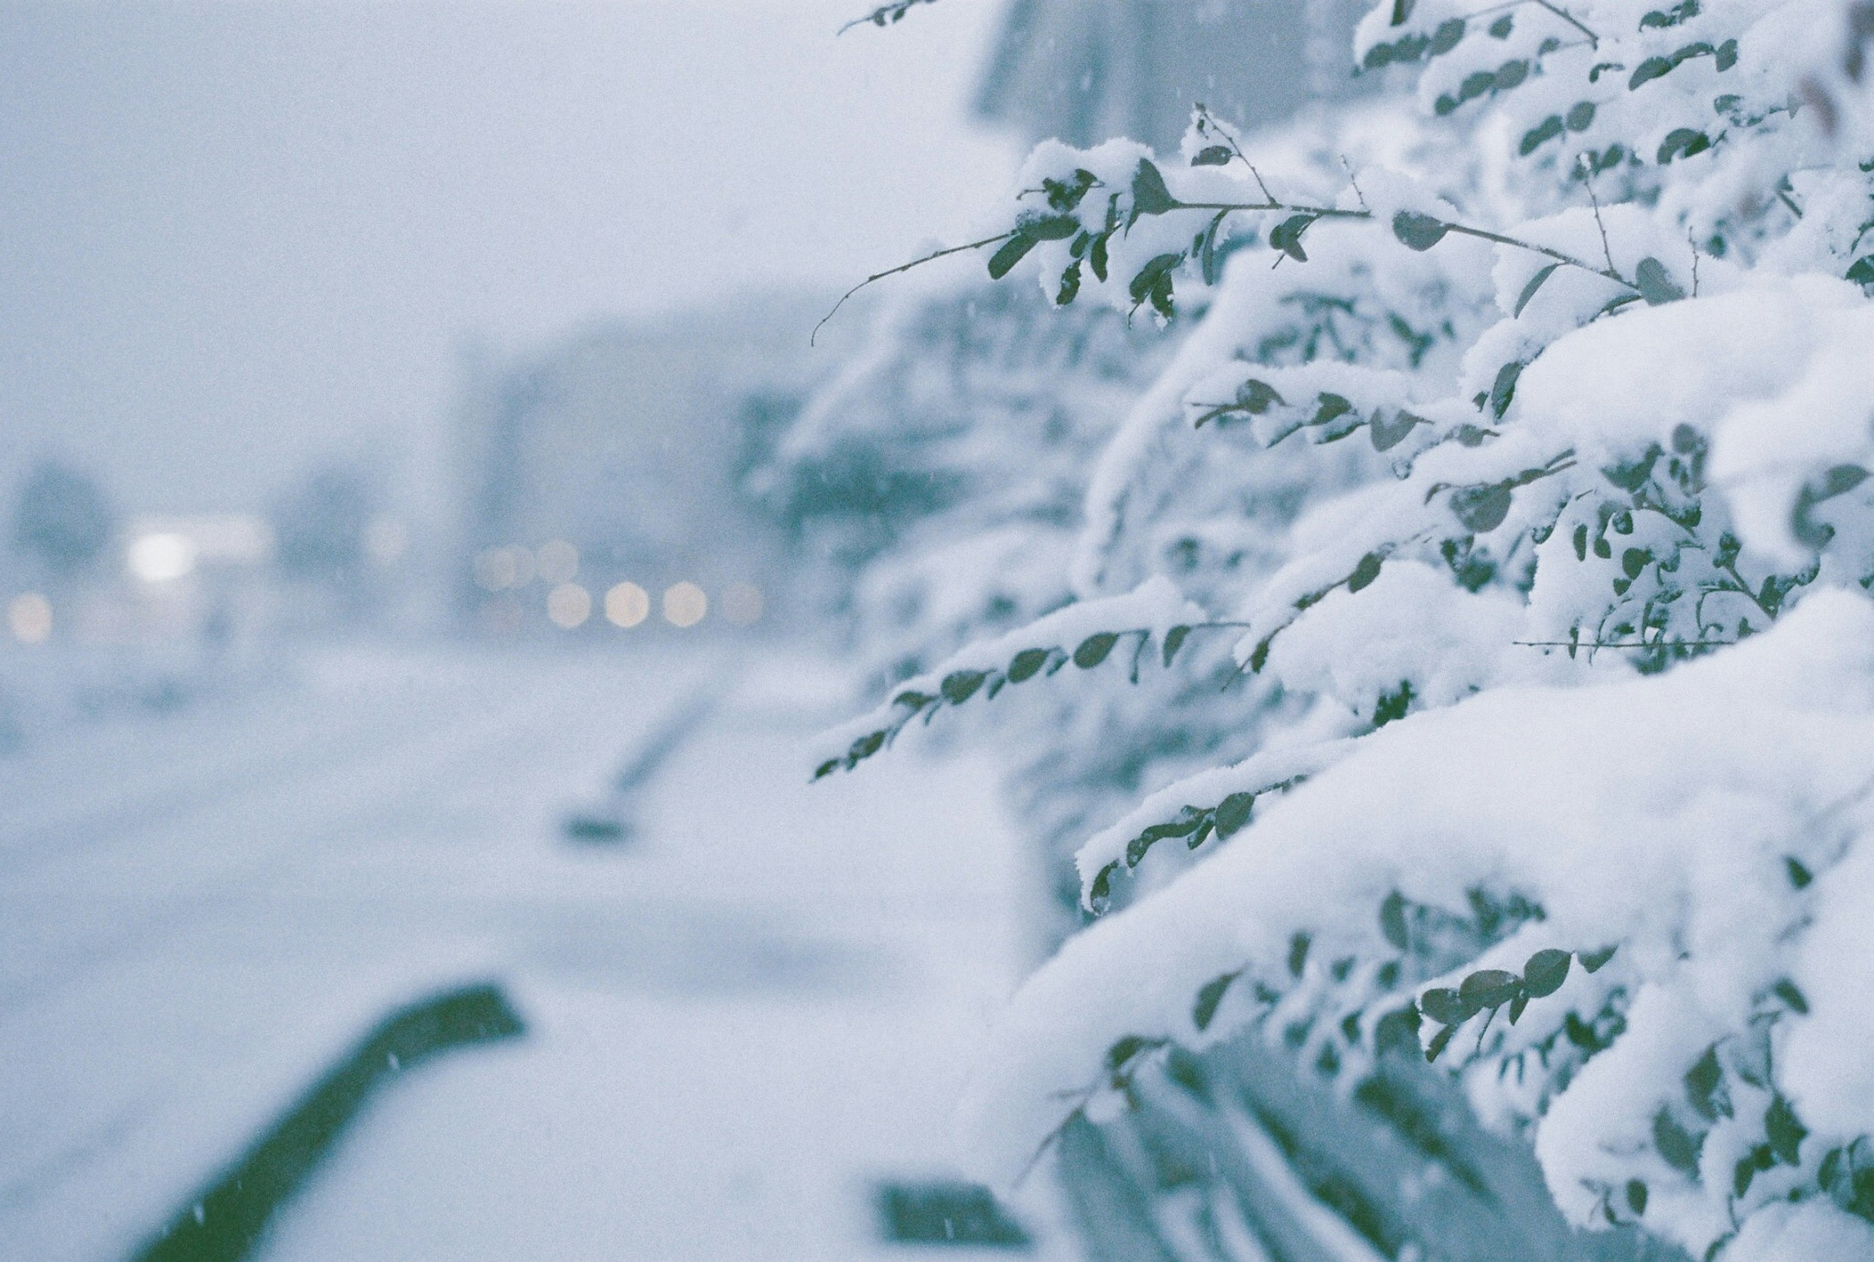
[[[1422,1048],[1578,1224],[1874,1256],[1870,36],[1389,0],[1353,53],[1417,111],[1031,156],[991,276],[1190,328],[1087,474],[1076,604],[815,769],[1216,639],[1241,681],[1145,729],[1248,758],[1089,829],[1087,908],[1128,906],[1014,1001],[984,1174],[1261,1028],[1346,1082]],[[1169,838],[1199,861],[1126,891]]]

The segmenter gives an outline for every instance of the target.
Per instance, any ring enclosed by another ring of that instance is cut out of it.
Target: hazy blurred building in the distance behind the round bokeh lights
[[[789,600],[744,489],[811,371],[821,298],[592,326],[470,369],[459,608],[495,634],[755,623]]]

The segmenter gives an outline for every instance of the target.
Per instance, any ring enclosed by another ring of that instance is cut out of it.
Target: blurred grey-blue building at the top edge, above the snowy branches
[[[1029,139],[1177,148],[1192,105],[1257,128],[1351,96],[1362,0],[1012,0],[976,98]]]

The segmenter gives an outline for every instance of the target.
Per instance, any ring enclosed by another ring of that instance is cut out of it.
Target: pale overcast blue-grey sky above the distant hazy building
[[[0,4],[0,504],[131,510],[409,450],[457,349],[851,281],[1006,193],[1001,0]],[[802,330],[804,332],[804,330]]]

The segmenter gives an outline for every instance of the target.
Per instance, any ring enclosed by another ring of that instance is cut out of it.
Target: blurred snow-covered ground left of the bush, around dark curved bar
[[[780,658],[628,803],[633,842],[566,842],[721,662],[326,656],[0,759],[0,1256],[126,1256],[386,1011],[478,979],[528,1033],[373,1097],[262,1256],[924,1251],[873,1185],[950,1172],[1019,848],[967,759],[806,788],[830,690]]]

